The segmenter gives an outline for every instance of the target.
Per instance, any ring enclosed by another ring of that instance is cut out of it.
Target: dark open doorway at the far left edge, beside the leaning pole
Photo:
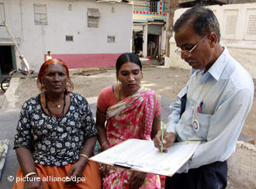
[[[0,46],[0,76],[9,74],[13,67],[12,46]]]

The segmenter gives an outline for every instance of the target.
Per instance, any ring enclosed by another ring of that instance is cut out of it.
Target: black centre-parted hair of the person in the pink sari
[[[142,64],[137,54],[123,53],[116,60],[116,71],[118,72],[122,67],[122,65],[125,64],[126,62],[132,62],[134,64],[137,64],[140,67],[140,70],[142,70]]]

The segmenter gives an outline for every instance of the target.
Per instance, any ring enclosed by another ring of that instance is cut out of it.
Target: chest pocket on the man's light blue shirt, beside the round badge
[[[197,135],[202,137],[202,139],[206,139],[209,131],[209,124],[213,118],[213,115],[210,114],[202,114],[199,113],[198,119],[199,119],[199,131],[197,132]]]

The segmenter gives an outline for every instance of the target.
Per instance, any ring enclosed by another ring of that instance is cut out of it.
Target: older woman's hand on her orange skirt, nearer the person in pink
[[[88,163],[88,159],[81,156],[80,159],[78,160],[78,162],[74,163],[74,165],[68,171],[67,177],[70,179],[72,177],[76,177],[76,178],[81,177],[81,174],[82,174],[83,170],[85,169],[85,166],[87,165],[87,163]],[[74,182],[76,180],[71,180],[69,182],[66,182],[65,184],[74,184]]]

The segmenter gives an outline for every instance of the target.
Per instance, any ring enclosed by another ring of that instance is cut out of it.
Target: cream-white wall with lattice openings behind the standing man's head
[[[232,5],[212,5],[208,6],[216,14],[220,22],[220,43],[227,46],[229,53],[234,57],[250,74],[256,78],[256,35],[247,35],[248,12],[254,12],[256,18],[256,3],[232,4]],[[174,20],[176,21],[186,9],[175,11]],[[236,24],[234,33],[232,29],[227,31],[227,12],[234,12]],[[252,16],[253,17],[253,16]],[[256,33],[256,29],[254,29]],[[231,34],[227,34],[230,32]],[[177,49],[174,37],[170,39],[170,66],[191,69],[174,51]]]

